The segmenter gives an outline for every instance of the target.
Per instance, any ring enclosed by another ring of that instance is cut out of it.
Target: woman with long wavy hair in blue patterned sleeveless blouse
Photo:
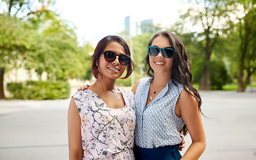
[[[201,97],[192,84],[190,61],[183,41],[169,31],[157,33],[148,43],[147,78],[132,91],[136,109],[136,159],[199,159],[206,146],[201,120]],[[180,133],[192,143],[183,157],[178,151]]]

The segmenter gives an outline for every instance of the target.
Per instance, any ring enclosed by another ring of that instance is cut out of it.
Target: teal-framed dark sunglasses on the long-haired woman
[[[175,50],[170,47],[160,49],[156,46],[148,46],[148,55],[150,55],[150,56],[155,57],[156,55],[158,55],[158,53],[160,51],[162,51],[162,56],[164,56],[166,58],[172,58],[172,56],[175,53]]]

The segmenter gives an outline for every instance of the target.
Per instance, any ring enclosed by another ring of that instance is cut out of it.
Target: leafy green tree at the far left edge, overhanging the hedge
[[[21,65],[21,59],[29,48],[29,43],[25,39],[29,39],[29,29],[26,29],[27,23],[21,19],[29,18],[30,15],[45,11],[50,3],[49,0],[37,1],[37,7],[34,6],[35,1],[24,0],[4,0],[0,5],[6,3],[7,11],[2,11],[0,15],[0,98],[5,98],[3,93],[3,71],[11,68],[17,68]],[[3,8],[1,8],[3,9]],[[6,68],[6,69],[5,69]]]

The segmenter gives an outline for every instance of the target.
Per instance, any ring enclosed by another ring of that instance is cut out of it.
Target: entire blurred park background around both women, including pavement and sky
[[[98,41],[127,41],[136,68],[116,85],[130,89],[163,30],[186,44],[209,117],[201,159],[255,159],[255,0],[0,0],[0,159],[68,159],[70,96],[94,83]]]

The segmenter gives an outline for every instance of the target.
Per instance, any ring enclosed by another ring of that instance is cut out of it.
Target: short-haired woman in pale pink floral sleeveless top
[[[134,70],[128,45],[121,37],[104,37],[92,55],[96,82],[70,101],[70,159],[134,159],[134,93],[114,85],[124,70],[121,79]]]

